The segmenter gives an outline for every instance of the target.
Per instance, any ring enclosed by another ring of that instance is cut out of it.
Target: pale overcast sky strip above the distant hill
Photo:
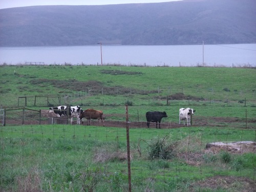
[[[0,9],[35,5],[109,5],[129,3],[160,3],[181,0],[1,0]]]

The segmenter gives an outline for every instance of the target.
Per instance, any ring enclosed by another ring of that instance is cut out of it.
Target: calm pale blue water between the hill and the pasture
[[[256,44],[70,47],[0,47],[0,65],[143,65],[256,67]]]

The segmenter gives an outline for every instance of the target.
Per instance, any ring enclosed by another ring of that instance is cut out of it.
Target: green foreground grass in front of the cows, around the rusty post
[[[207,143],[255,141],[255,134],[253,129],[219,127],[130,129],[132,189],[216,191],[194,185],[214,176],[246,177],[255,182],[255,153],[222,151],[215,154],[205,151]],[[166,146],[175,146],[173,151],[168,148],[172,156],[150,156],[152,148],[155,150],[152,146],[159,141],[164,141]],[[90,191],[90,188],[93,191],[127,191],[124,128],[2,126],[1,146],[0,182],[4,191],[19,191],[28,185],[26,182],[38,191],[79,191],[82,187],[84,191]],[[187,159],[178,154],[191,156]],[[194,155],[199,156],[195,158]],[[243,183],[240,183],[230,189],[240,191],[242,187]],[[220,186],[218,191],[231,190]]]

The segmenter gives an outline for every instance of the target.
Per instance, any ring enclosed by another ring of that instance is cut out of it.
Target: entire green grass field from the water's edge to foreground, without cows
[[[1,126],[1,191],[127,191],[125,103],[131,124],[145,123],[147,111],[168,115],[163,129],[154,123],[130,129],[132,191],[256,191],[255,144],[206,148],[255,142],[255,74],[241,68],[1,66],[2,108],[17,108],[22,96],[60,96],[61,105],[103,110],[106,123],[121,124]],[[58,105],[55,98],[37,99],[34,106],[29,97],[27,107]],[[196,109],[192,127],[178,126],[184,106]],[[38,120],[35,112],[25,116]],[[7,111],[7,120],[21,119],[22,110]]]

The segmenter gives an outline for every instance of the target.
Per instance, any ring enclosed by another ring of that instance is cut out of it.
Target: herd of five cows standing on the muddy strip
[[[67,111],[69,112],[69,115],[67,115]],[[183,124],[185,125],[185,120],[187,121],[187,126],[190,126],[190,120],[191,120],[191,115],[194,115],[196,110],[193,110],[191,108],[181,108],[179,110],[179,124],[181,120],[183,120]],[[83,111],[79,105],[77,106],[69,106],[69,110],[67,110],[67,106],[52,106],[50,108],[49,113],[55,113],[58,117],[65,116],[65,117],[70,117],[71,118],[71,124],[73,122],[73,117],[77,119],[77,124],[80,124],[80,120],[83,118],[87,119],[87,125],[90,125],[91,119],[98,119],[99,122],[103,122],[104,124],[104,118],[103,118],[103,112],[102,111],[97,111],[94,109],[87,109]],[[156,123],[156,128],[157,124],[160,129],[160,123],[163,117],[167,117],[166,112],[159,112],[159,111],[148,111],[146,112],[146,121],[147,121],[147,127],[150,127],[150,122],[155,122]],[[82,121],[83,123],[83,121]]]

